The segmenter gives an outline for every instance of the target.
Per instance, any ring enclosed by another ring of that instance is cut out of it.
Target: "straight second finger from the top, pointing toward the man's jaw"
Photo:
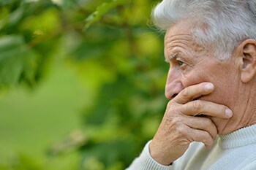
[[[208,115],[212,117],[230,118],[233,112],[222,104],[216,104],[211,101],[195,100],[184,104],[181,112],[185,115]]]

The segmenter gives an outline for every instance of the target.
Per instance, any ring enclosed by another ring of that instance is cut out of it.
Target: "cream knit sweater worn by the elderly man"
[[[127,170],[256,170],[256,125],[219,135],[211,150],[200,142],[193,142],[172,166],[154,161],[149,144]]]

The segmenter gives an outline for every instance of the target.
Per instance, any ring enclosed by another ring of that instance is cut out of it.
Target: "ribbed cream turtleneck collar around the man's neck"
[[[238,129],[230,134],[219,135],[219,147],[230,149],[256,144],[256,125]]]

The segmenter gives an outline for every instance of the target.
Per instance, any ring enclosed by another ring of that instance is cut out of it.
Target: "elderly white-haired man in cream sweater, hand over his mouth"
[[[129,170],[256,169],[256,0],[163,0],[172,98]]]

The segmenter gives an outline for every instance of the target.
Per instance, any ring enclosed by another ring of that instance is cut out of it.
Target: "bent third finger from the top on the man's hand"
[[[217,127],[209,118],[187,116],[186,124],[189,128],[207,131],[214,140],[217,137]]]

